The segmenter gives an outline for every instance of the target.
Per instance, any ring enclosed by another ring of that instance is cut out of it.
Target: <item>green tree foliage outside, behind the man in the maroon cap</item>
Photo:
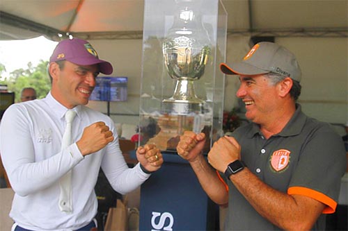
[[[29,62],[27,69],[17,69],[6,76],[6,67],[0,63],[0,84],[8,85],[8,91],[15,92],[16,103],[20,101],[20,92],[23,87],[33,87],[38,99],[42,99],[51,89],[47,65],[48,61],[40,60],[38,66],[33,67]]]

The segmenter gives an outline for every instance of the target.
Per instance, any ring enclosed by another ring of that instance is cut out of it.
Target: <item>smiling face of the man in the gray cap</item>
[[[263,75],[240,76],[237,97],[245,103],[246,118],[258,124],[271,121],[278,109],[277,85]]]

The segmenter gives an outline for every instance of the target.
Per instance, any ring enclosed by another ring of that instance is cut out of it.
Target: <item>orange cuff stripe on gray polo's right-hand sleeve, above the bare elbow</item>
[[[322,194],[319,191],[308,189],[306,187],[290,187],[289,189],[287,189],[287,194],[308,196],[310,198],[320,201],[321,203],[327,205],[322,212],[323,214],[333,214],[337,207],[337,203],[335,202],[335,200],[329,198],[329,196],[326,196],[325,194]]]

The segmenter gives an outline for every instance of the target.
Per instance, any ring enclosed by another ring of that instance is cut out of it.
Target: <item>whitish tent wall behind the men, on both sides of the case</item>
[[[249,37],[228,36],[226,62],[241,60],[250,49]],[[276,37],[276,42],[292,51],[302,69],[303,111],[330,123],[348,121],[348,44],[345,37]],[[128,101],[111,103],[111,115],[119,123],[138,123],[141,83],[142,40],[90,40],[100,58],[112,63],[112,76],[128,76]],[[235,92],[239,80],[226,76],[226,110],[237,106]],[[106,103],[90,102],[90,107],[106,112]]]

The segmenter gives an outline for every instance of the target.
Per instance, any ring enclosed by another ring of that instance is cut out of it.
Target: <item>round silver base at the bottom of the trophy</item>
[[[162,101],[162,113],[186,115],[191,113],[200,113],[203,110],[204,101],[184,101],[164,99]]]

